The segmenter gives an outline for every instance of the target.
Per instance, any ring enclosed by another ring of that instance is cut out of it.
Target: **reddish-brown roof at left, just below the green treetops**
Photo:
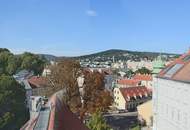
[[[31,85],[32,88],[39,88],[39,87],[47,87],[48,80],[45,77],[33,76],[28,79],[28,83]]]

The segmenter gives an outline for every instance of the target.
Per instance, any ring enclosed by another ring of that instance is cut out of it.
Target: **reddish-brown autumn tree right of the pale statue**
[[[87,72],[84,82],[84,113],[94,113],[97,110],[106,111],[113,100],[109,91],[105,90],[104,75],[99,72]]]

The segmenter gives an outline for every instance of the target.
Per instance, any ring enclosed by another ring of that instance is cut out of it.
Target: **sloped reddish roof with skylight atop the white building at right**
[[[190,51],[167,65],[158,77],[190,82]]]

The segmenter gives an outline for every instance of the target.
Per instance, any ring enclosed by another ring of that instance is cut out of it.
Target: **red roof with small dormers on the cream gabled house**
[[[132,97],[136,98],[137,96],[148,96],[152,94],[152,91],[147,87],[138,86],[138,87],[129,87],[129,88],[119,88],[125,100],[128,100]]]

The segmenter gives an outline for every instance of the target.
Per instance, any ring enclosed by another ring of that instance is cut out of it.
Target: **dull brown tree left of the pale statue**
[[[51,76],[55,87],[66,90],[67,105],[73,112],[76,112],[81,107],[80,92],[77,78],[81,72],[80,63],[74,60],[66,59],[59,61],[51,67]]]

